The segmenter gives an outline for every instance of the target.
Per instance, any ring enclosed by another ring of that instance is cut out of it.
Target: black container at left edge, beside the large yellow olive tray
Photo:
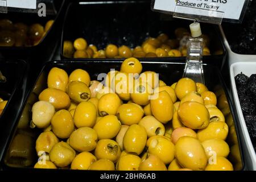
[[[23,60],[0,59],[0,71],[6,77],[6,82],[0,82],[0,97],[8,100],[0,115],[0,153],[5,147],[6,139],[10,135],[9,126],[14,125],[17,113],[22,107],[25,94],[27,64]]]

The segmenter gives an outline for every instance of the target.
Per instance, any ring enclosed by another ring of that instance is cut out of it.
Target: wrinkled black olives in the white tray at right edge
[[[243,117],[252,142],[256,142],[256,74],[247,77],[243,73],[235,77],[237,93]]]

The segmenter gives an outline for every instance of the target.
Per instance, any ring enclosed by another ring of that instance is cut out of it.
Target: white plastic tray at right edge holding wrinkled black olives
[[[240,60],[239,57],[236,57],[234,60]],[[246,168],[249,170],[256,170],[256,154],[251,143],[251,139],[246,127],[245,119],[243,118],[243,113],[240,105],[240,101],[237,94],[237,87],[234,80],[234,77],[239,73],[243,73],[246,76],[251,76],[256,73],[256,57],[254,61],[234,61],[235,63],[230,65],[230,80],[233,92],[233,100],[236,106],[236,111],[238,115],[238,125],[240,126],[241,132],[241,143],[243,145],[243,155],[245,156]]]

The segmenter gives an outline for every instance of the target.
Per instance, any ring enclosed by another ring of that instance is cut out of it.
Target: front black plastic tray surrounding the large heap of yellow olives
[[[48,75],[49,70],[53,67],[62,68],[65,71],[67,71],[68,74],[70,74],[74,69],[77,69],[77,68],[85,69],[90,74],[91,79],[96,80],[97,75],[99,73],[108,73],[110,71],[110,68],[115,68],[115,69],[119,70],[121,63],[122,63],[121,60],[116,60],[116,61],[102,61],[102,60],[50,61],[44,65],[44,67],[38,77],[38,81],[36,82],[35,85],[38,85],[39,80],[40,80],[40,83],[42,85],[42,90],[44,88],[46,88],[47,75]],[[164,82],[166,82],[166,84],[168,84],[168,85],[179,80],[179,78],[182,77],[183,70],[184,70],[183,63],[172,63],[172,62],[167,63],[167,62],[159,62],[159,60],[142,61],[142,65],[143,65],[143,71],[155,71],[156,73],[159,73],[160,79],[163,80]],[[226,92],[226,86],[223,82],[221,73],[217,67],[214,67],[212,65],[204,65],[204,70],[205,70],[205,81],[206,81],[205,84],[208,86],[209,90],[214,90],[216,88],[219,88],[219,89],[224,89],[224,91],[226,93],[226,97],[228,98],[228,102],[229,102],[229,106],[230,106],[230,111],[233,115],[234,122],[236,125],[236,134],[237,134],[237,139],[238,139],[237,143],[238,143],[238,146],[240,147],[240,154],[241,154],[240,166],[242,167],[242,169],[244,169],[245,168],[245,164],[243,163],[244,156],[242,154],[242,148],[240,145],[240,133],[237,130],[237,127],[238,127],[237,122],[236,122],[237,118],[234,115],[233,107],[231,105],[229,96]],[[31,94],[33,94],[32,88],[31,88],[30,96],[31,96]],[[24,102],[23,109],[24,109],[24,106],[26,106],[26,105],[27,105],[27,101]],[[20,117],[20,115],[23,112],[23,109],[15,114]],[[2,156],[0,156],[0,160],[1,160],[0,164],[2,165],[2,169],[5,169],[5,170],[9,170],[9,169],[38,170],[38,169],[31,168],[36,163],[36,157],[35,157],[34,163],[28,167],[14,167],[14,166],[7,165],[5,163],[5,161],[8,161],[8,159],[6,159],[8,151],[9,151],[8,146],[10,146],[13,137],[17,133],[20,133],[20,130],[18,130],[17,127],[15,127],[15,125],[18,124],[19,117],[18,117],[18,119],[16,119],[15,122],[12,123],[12,125],[14,127],[9,129],[11,134],[10,134],[10,137],[6,139],[7,145],[5,148],[5,153]],[[31,137],[34,140],[38,137],[38,134],[39,134],[37,129],[28,129],[28,130],[26,130],[26,132],[30,133]],[[32,154],[34,156],[36,156],[35,146],[31,145],[30,150],[31,150]],[[234,164],[234,165],[236,165],[236,164]],[[39,169],[39,171],[40,171],[40,169]]]

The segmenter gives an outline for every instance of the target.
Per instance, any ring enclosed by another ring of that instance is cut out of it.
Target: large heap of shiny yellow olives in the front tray
[[[47,85],[32,106],[31,127],[42,129],[35,168],[238,168],[236,130],[221,91],[190,78],[168,86],[155,72],[142,72],[134,57],[104,83],[91,81],[83,69],[68,76],[54,67]]]

